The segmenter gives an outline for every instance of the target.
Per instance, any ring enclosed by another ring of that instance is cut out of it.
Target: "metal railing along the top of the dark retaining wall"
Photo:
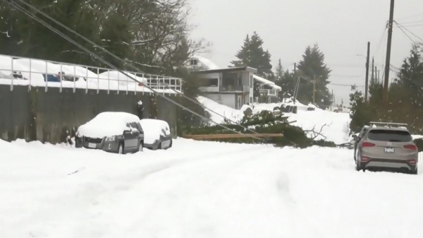
[[[142,83],[133,81],[118,71],[94,66],[68,64],[42,59],[30,59],[17,56],[0,54],[0,84],[10,84],[11,90],[14,85],[27,85],[28,90],[32,87],[48,88],[85,88],[97,90],[110,90],[152,93],[176,93],[173,90],[182,92],[182,81],[180,78],[169,76],[158,76],[149,73],[135,73],[125,71],[131,77]]]

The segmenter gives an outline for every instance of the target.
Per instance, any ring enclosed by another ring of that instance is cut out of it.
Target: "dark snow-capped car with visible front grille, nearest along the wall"
[[[126,112],[102,112],[78,128],[75,147],[119,154],[142,151],[140,118]]]

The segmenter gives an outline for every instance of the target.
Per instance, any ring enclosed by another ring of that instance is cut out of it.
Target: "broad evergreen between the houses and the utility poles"
[[[328,81],[331,69],[324,63],[324,54],[319,46],[307,47],[298,64],[298,71],[303,80],[298,91],[298,100],[302,102],[313,101],[313,83],[316,80],[316,103],[322,107],[328,107],[332,102],[332,95],[327,88],[331,83]]]

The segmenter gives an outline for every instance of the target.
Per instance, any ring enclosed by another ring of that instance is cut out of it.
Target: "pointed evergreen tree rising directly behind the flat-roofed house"
[[[271,54],[269,50],[264,51],[263,40],[254,32],[251,37],[247,35],[243,47],[235,55],[238,60],[231,61],[232,66],[249,66],[257,69],[257,75],[274,81],[274,73],[271,71]],[[254,83],[254,97],[259,97],[259,83]]]

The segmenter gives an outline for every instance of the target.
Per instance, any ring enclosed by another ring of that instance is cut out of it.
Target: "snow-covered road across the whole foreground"
[[[0,237],[423,236],[423,177],[355,172],[350,150],[184,139],[123,156],[0,149]]]

